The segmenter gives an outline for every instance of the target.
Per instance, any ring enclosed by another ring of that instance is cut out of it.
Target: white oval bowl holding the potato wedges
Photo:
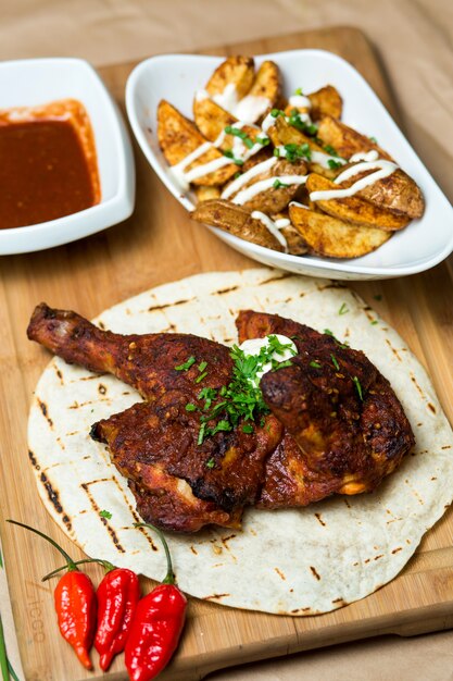
[[[450,202],[426,170],[411,145],[364,78],[340,57],[323,50],[293,50],[256,57],[274,60],[284,76],[285,95],[295,88],[316,90],[335,85],[343,103],[343,121],[361,133],[375,136],[397,162],[420,186],[426,211],[421,220],[392,236],[378,250],[362,258],[337,260],[314,256],[288,256],[255,246],[222,230],[210,227],[236,250],[269,264],[297,272],[341,280],[390,278],[428,270],[453,250],[453,212]],[[168,174],[168,165],[159,148],[156,109],[167,99],[192,119],[193,94],[204,87],[218,57],[165,54],[141,62],[126,86],[126,108],[134,134],[159,177],[187,210],[193,209],[190,196],[183,196]]]

